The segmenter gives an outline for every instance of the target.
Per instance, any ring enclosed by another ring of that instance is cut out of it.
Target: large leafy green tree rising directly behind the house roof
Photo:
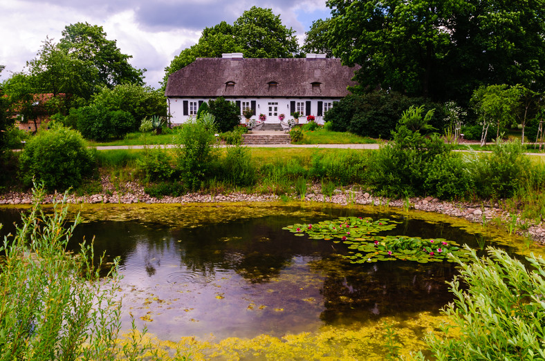
[[[191,64],[198,57],[221,57],[224,52],[242,52],[244,57],[292,57],[299,50],[295,32],[281,23],[273,10],[257,8],[243,12],[233,25],[221,21],[205,28],[198,43],[174,57],[165,68],[163,90],[169,75]]]

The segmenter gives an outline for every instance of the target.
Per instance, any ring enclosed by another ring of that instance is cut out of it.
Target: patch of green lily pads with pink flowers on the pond
[[[308,235],[311,240],[333,240],[348,245],[351,263],[378,261],[454,262],[449,255],[461,261],[468,260],[468,252],[459,244],[443,238],[422,239],[420,237],[378,236],[376,233],[396,228],[395,221],[371,217],[340,217],[315,224],[293,224],[282,229],[297,236]]]

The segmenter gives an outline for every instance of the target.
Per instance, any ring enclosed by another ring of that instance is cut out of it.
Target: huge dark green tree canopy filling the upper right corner
[[[468,101],[479,85],[545,88],[544,3],[329,0],[327,45],[376,88]]]

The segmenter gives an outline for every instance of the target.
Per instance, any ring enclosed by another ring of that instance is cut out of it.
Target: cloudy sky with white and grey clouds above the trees
[[[0,0],[0,64],[10,72],[24,70],[46,36],[58,41],[64,26],[88,22],[100,25],[107,39],[132,55],[131,64],[146,68],[145,81],[158,87],[165,66],[201,37],[201,31],[221,21],[233,23],[252,6],[271,8],[293,28],[299,42],[316,19],[329,17],[326,0]]]

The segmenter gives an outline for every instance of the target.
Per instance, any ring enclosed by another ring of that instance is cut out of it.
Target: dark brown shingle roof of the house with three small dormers
[[[340,59],[197,58],[172,73],[167,97],[345,97],[356,83]],[[233,81],[234,86],[227,86]],[[270,86],[277,82],[277,86]],[[320,86],[312,86],[312,83]]]

